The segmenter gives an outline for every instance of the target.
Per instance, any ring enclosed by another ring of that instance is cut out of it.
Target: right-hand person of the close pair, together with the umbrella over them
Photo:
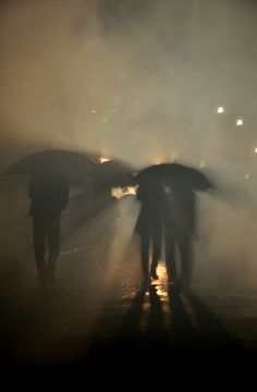
[[[193,238],[195,234],[195,191],[207,191],[213,185],[197,169],[179,163],[161,163],[148,167],[138,174],[140,179],[155,179],[166,189],[162,197],[162,222],[164,228],[166,265],[170,282],[179,282],[187,290],[193,272]],[[178,281],[175,247],[181,259],[181,275]],[[156,262],[157,265],[157,262]]]

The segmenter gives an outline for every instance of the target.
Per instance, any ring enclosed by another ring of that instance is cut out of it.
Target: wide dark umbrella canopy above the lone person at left
[[[86,176],[87,171],[95,163],[86,155],[79,152],[49,149],[22,158],[11,166],[4,175],[29,175],[51,166],[62,171],[68,179],[74,180]]]

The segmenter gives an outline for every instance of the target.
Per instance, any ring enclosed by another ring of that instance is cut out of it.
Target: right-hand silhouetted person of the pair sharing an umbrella
[[[164,221],[166,261],[169,280],[176,280],[175,247],[181,258],[179,283],[188,289],[192,281],[192,243],[195,232],[195,194],[186,184],[172,183],[169,219]]]

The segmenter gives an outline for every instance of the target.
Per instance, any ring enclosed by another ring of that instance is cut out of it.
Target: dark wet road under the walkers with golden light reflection
[[[74,273],[76,261],[71,255],[59,262],[56,289],[40,290],[32,265],[1,282],[2,365],[75,368],[152,356],[255,362],[257,298],[185,294],[167,283],[163,265],[145,290],[137,260],[101,274],[82,261]]]

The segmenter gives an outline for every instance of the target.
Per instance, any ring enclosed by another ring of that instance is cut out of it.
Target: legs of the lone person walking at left
[[[54,283],[56,265],[60,252],[60,213],[34,216],[34,250],[38,269],[38,281],[42,286],[48,283]],[[49,252],[46,259],[47,244]]]

